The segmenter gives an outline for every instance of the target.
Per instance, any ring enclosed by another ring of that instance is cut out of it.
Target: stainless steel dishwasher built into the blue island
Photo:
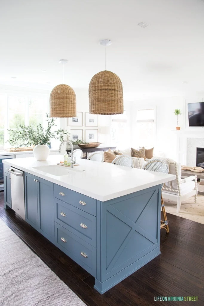
[[[12,209],[25,220],[24,172],[10,167]]]

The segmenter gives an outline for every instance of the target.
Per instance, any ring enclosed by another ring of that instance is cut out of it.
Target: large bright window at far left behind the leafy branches
[[[8,129],[15,129],[20,124],[36,127],[45,123],[45,114],[49,111],[48,95],[0,93],[0,110],[0,148],[3,149],[9,139]]]

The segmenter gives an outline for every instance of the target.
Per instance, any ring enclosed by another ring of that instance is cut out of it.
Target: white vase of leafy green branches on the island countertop
[[[16,147],[29,147],[35,145],[33,154],[37,160],[46,160],[50,154],[49,147],[51,139],[63,140],[64,136],[69,136],[69,132],[64,129],[57,129],[51,131],[55,119],[49,118],[47,115],[47,128],[43,128],[42,124],[39,124],[36,129],[31,125],[18,125],[16,129],[9,129],[9,140],[11,146]],[[20,142],[20,145],[19,145]]]

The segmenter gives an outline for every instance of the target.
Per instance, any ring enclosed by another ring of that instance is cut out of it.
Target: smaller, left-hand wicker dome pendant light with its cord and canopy
[[[59,60],[63,64],[66,60]],[[62,77],[62,78],[63,78]],[[63,81],[62,81],[63,82]],[[50,117],[76,117],[76,95],[74,90],[66,84],[59,84],[50,93]]]

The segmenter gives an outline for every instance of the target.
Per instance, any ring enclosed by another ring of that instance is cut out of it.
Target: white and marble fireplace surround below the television
[[[203,131],[177,131],[176,156],[182,165],[196,166],[196,148],[204,148]]]

